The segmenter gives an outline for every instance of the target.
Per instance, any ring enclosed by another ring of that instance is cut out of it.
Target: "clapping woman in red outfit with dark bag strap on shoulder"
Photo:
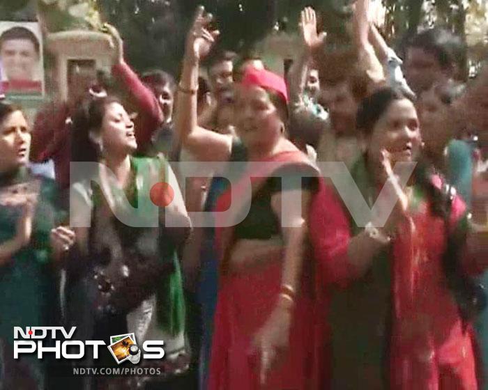
[[[488,265],[487,235],[468,228],[464,203],[423,164],[399,185],[392,166],[417,161],[421,146],[415,107],[402,93],[367,98],[358,128],[367,150],[351,172],[356,185],[369,207],[383,187],[398,200],[386,224],[365,228],[332,189],[312,203],[315,255],[338,287],[330,288],[332,388],[476,390],[470,321],[479,309],[472,299],[482,296],[469,274]],[[324,203],[326,214],[313,212]]]

